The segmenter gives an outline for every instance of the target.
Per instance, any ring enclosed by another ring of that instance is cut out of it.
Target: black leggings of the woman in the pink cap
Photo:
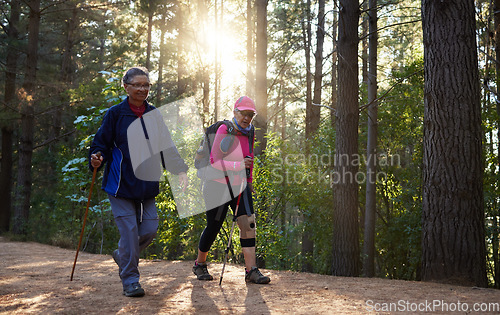
[[[224,219],[226,218],[229,206],[231,206],[231,209],[233,211],[236,209],[236,204],[238,201],[238,196],[236,194],[238,193],[239,189],[239,186],[233,186],[233,199],[229,200],[219,207],[215,207],[206,212],[207,226],[201,234],[200,243],[198,245],[200,251],[206,253],[210,250],[210,247],[217,238],[217,234],[219,234],[219,231],[222,228],[222,224],[224,223]],[[205,197],[205,200],[207,200],[207,198],[213,198],[213,196],[223,196],[224,193],[227,194],[227,190],[228,187],[226,184],[221,184],[215,181],[207,181],[207,183],[205,183],[205,186],[203,187],[203,195]],[[236,214],[236,217],[244,214],[251,215],[253,213],[254,209],[252,192],[250,191],[250,187],[247,186],[245,190],[243,190],[243,193],[241,195],[240,205],[238,207],[238,213]],[[240,242],[242,242],[241,239]],[[249,246],[248,241],[243,241],[241,245],[242,247],[253,247],[255,246],[255,239],[253,241],[253,246]]]

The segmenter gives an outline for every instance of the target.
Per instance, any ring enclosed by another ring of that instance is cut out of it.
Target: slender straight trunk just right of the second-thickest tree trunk
[[[375,216],[377,206],[377,0],[370,0],[368,13],[368,141],[366,145],[366,205],[363,243],[363,271],[366,277],[375,275]]]

